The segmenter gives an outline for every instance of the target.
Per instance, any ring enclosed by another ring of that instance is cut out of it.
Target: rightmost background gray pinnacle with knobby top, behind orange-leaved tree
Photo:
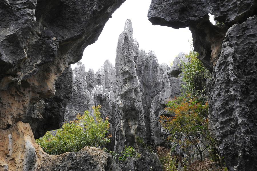
[[[181,67],[180,61],[188,62],[185,53],[180,53],[174,59],[173,65],[169,71],[164,71],[162,76],[162,91],[154,96],[150,108],[150,130],[151,138],[154,144],[162,144],[168,136],[168,133],[162,128],[159,122],[159,117],[166,115],[166,103],[172,100],[174,96],[179,96],[182,89]],[[163,65],[162,65],[163,66]],[[161,133],[161,134],[160,134]]]

